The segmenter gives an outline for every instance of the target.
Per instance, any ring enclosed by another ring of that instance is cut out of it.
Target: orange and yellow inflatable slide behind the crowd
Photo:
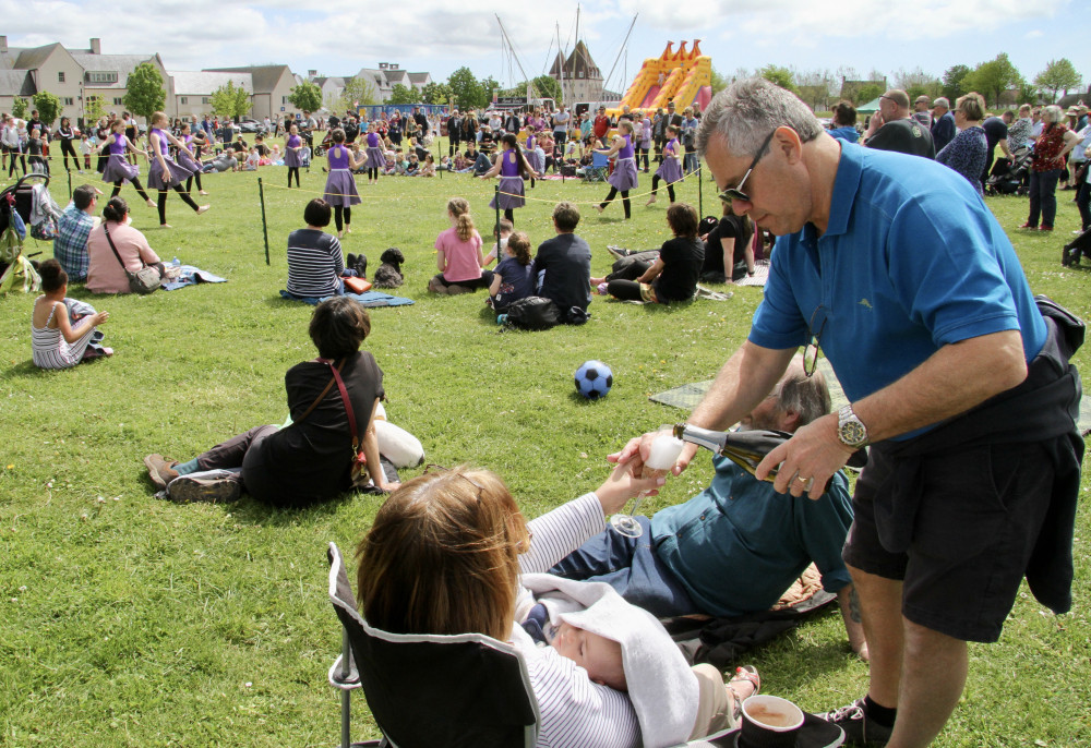
[[[694,39],[693,49],[686,51],[682,41],[673,51],[674,43],[668,41],[667,49],[659,57],[644,61],[628,91],[621,99],[622,106],[633,111],[654,114],[667,102],[674,101],[674,109],[682,110],[695,101],[704,109],[712,98],[712,58],[700,53],[700,39]],[[616,116],[622,109],[611,109],[607,113]]]

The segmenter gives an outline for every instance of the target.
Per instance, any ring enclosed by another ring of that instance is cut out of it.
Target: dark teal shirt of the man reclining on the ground
[[[651,518],[656,556],[698,610],[717,616],[767,611],[814,562],[823,588],[849,583],[841,546],[852,524],[849,481],[837,473],[818,500],[778,494],[727,457],[711,484]]]

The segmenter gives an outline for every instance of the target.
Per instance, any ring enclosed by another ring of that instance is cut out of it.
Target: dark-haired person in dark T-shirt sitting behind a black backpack
[[[556,236],[538,246],[533,274],[539,277],[538,295],[556,304],[561,321],[582,324],[591,303],[591,248],[575,234],[579,208],[561,202],[553,208]]]

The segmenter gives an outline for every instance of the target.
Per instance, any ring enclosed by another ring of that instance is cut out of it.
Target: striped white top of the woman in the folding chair
[[[524,574],[542,572],[602,532],[602,505],[595,494],[553,509],[528,523],[530,551],[519,557]],[[529,592],[520,594],[529,598]],[[531,601],[532,602],[532,601]],[[521,605],[520,605],[521,607]],[[538,748],[633,748],[640,745],[636,712],[625,693],[592,683],[587,671],[552,647],[537,647],[518,624],[512,643],[527,664],[538,698]]]

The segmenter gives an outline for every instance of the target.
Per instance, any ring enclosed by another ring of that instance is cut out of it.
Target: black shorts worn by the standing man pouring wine
[[[963,641],[996,641],[1050,507],[1054,467],[1036,443],[921,459],[921,496],[892,517],[896,459],[873,445],[852,497],[844,563],[903,581],[902,615]],[[908,542],[904,552],[891,552]]]

